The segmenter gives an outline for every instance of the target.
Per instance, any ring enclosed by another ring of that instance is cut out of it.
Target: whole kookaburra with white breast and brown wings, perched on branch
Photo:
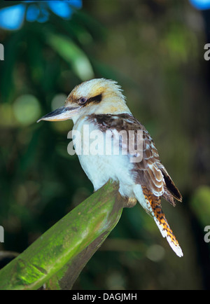
[[[83,139],[84,145],[89,143],[89,139],[85,138],[85,132],[83,132],[84,128],[88,127],[90,134],[94,130],[101,132],[102,139],[108,138],[105,134],[109,133],[113,146],[117,142],[120,147],[118,154],[114,155],[112,149],[111,153],[97,155],[83,153],[85,146],[82,146],[78,158],[87,177],[92,181],[94,191],[104,186],[110,179],[117,181],[120,195],[130,200],[132,205],[138,201],[153,217],[162,237],[166,237],[176,255],[183,256],[183,251],[167,222],[161,205],[161,198],[164,198],[175,206],[176,200],[182,201],[182,195],[165,166],[162,165],[151,135],[132,115],[118,82],[106,78],[84,81],[73,88],[64,106],[46,114],[37,122],[68,119],[73,120],[73,131],[81,134],[80,139]],[[118,134],[122,130],[127,134],[127,138],[130,137],[134,141],[136,148],[138,132],[141,134],[141,151],[140,149],[130,151],[128,140],[125,137],[119,139]],[[99,146],[102,139],[97,141]],[[73,141],[76,151],[79,142],[78,139]],[[103,148],[104,146],[102,146],[102,151],[104,151]],[[122,153],[122,151],[127,151],[127,153]],[[139,156],[141,156],[139,158],[141,161],[133,161]]]

